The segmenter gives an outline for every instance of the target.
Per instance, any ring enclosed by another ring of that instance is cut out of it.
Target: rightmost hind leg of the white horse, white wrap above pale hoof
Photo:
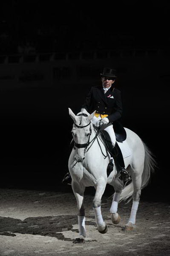
[[[131,208],[130,218],[128,223],[125,226],[125,230],[133,230],[133,226],[136,221],[136,213],[138,210],[138,204],[140,201],[140,195],[141,195],[141,177],[142,172],[144,169],[144,165],[141,164],[140,166],[134,166],[135,168],[132,169],[131,175],[133,180],[133,204]]]

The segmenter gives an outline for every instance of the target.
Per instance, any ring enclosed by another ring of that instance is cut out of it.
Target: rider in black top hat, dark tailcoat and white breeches
[[[126,181],[129,178],[129,174],[124,168],[124,160],[120,148],[116,143],[112,125],[112,122],[118,120],[122,115],[121,92],[114,87],[116,77],[114,69],[105,67],[101,74],[102,86],[94,86],[91,88],[81,108],[81,112],[87,111],[88,113],[92,113],[96,110],[92,123],[97,127],[99,124],[103,125],[104,130],[108,132],[113,145],[113,155],[115,155],[115,149],[119,151],[119,157],[116,162],[121,174],[121,179]],[[99,120],[101,121],[99,122]],[[71,175],[67,173],[62,182],[70,183],[70,181]]]

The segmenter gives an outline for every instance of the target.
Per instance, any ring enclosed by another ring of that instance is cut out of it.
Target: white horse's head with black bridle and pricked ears
[[[85,149],[88,146],[90,135],[92,133],[92,123],[95,111],[90,115],[88,112],[80,112],[76,116],[69,108],[69,115],[74,121],[72,128],[72,137],[75,143],[75,160],[82,162],[84,160]]]

